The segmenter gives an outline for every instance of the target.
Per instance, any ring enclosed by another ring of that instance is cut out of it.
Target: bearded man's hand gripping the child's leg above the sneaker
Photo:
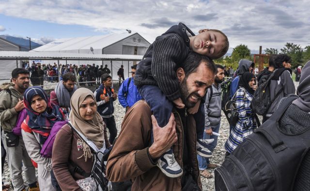
[[[168,124],[161,128],[158,126],[156,118],[152,115],[153,123],[153,137],[154,143],[149,148],[149,153],[152,159],[158,159],[164,154],[172,145],[178,140],[175,132],[175,121],[174,116],[171,113]]]

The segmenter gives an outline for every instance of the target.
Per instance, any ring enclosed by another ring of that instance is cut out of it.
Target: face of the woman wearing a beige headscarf
[[[79,115],[86,121],[92,120],[97,112],[97,104],[92,96],[87,96],[79,106]]]

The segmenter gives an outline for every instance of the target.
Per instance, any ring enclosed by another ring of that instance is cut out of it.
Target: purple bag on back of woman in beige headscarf
[[[50,131],[47,140],[44,142],[40,155],[45,158],[51,158],[52,157],[52,150],[53,150],[53,144],[56,138],[57,132],[59,132],[60,129],[62,129],[62,126],[64,126],[68,121],[57,121],[54,126],[52,127],[52,130]]]

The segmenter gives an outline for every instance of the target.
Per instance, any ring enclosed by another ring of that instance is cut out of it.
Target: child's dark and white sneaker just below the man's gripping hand
[[[165,152],[157,161],[157,166],[166,176],[175,178],[183,174],[183,170],[174,159],[172,149]]]

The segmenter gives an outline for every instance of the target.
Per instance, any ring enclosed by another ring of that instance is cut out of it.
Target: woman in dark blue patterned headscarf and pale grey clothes
[[[40,190],[55,191],[51,183],[51,159],[40,155],[42,145],[57,121],[63,121],[66,115],[57,105],[52,105],[43,88],[34,86],[26,89],[24,104],[27,118],[21,125],[23,141],[30,158],[38,164]]]

